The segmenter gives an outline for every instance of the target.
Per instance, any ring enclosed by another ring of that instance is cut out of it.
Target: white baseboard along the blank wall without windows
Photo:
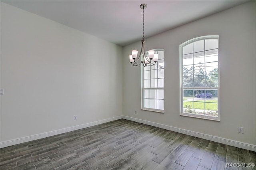
[[[94,125],[99,125],[99,124],[102,124],[102,123],[107,123],[107,122],[115,121],[115,120],[118,120],[118,119],[122,119],[122,116],[103,119],[103,120],[100,120],[100,121],[86,123],[86,124],[83,124],[83,125],[77,125],[77,126],[73,126],[73,127],[62,128],[62,129],[53,130],[53,131],[50,131],[50,132],[34,134],[34,135],[31,135],[31,136],[25,136],[25,137],[21,137],[21,138],[12,139],[12,140],[6,140],[6,141],[3,141],[3,142],[0,143],[0,148],[4,148],[4,147],[7,147],[7,146],[12,146],[14,144],[20,144],[20,143],[23,143],[23,142],[29,142],[29,141],[32,141],[32,140],[37,140],[37,139],[40,139],[40,138],[46,138],[46,137],[49,137],[49,136],[54,136],[56,134],[71,132],[73,130],[78,130],[78,129],[82,129],[82,128],[86,128],[86,127],[91,127],[91,126],[94,126]]]

